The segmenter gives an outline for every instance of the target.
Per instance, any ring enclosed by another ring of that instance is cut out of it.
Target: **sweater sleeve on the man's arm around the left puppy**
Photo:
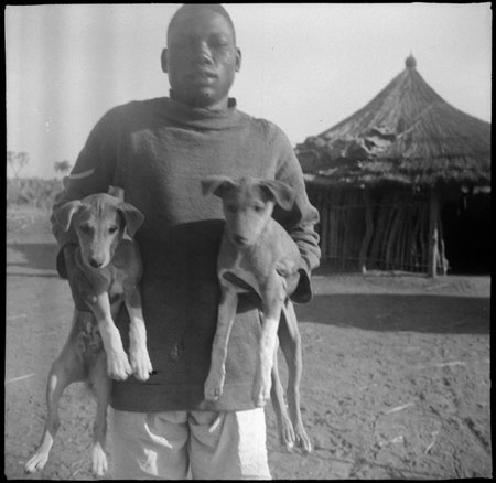
[[[51,224],[52,234],[57,240],[60,248],[56,268],[58,275],[63,278],[67,278],[67,272],[62,249],[67,244],[77,244],[77,236],[72,228],[68,232],[64,232],[56,221],[56,212],[69,201],[108,191],[109,185],[112,183],[116,168],[115,138],[111,111],[109,111],[93,128],[71,174],[64,180],[64,191],[55,198]]]

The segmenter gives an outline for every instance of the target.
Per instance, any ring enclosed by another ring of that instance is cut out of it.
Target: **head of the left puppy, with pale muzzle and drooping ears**
[[[144,216],[129,203],[95,194],[64,204],[55,212],[55,219],[65,232],[74,227],[83,261],[91,268],[104,268],[112,260],[125,229],[133,237]]]

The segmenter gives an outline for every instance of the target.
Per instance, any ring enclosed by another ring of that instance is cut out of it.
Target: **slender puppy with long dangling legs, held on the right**
[[[226,219],[217,259],[220,302],[211,368],[204,387],[205,400],[215,401],[223,394],[227,345],[238,294],[255,292],[261,300],[262,311],[254,404],[262,407],[272,396],[281,443],[289,450],[296,443],[310,452],[311,442],[300,412],[301,339],[288,297],[298,282],[301,255],[288,232],[272,217],[276,205],[287,211],[292,208],[294,190],[274,180],[224,175],[203,179],[202,190],[204,195],[214,194],[222,198]],[[277,366],[279,343],[289,368],[290,417]]]

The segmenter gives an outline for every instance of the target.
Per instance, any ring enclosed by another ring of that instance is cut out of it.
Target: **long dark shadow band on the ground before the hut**
[[[368,331],[488,334],[490,299],[418,294],[314,296],[300,322]]]

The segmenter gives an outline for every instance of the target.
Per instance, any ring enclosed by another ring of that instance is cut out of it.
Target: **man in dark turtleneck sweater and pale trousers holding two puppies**
[[[236,109],[228,97],[241,64],[233,22],[218,4],[184,4],[172,18],[162,68],[170,97],[108,111],[90,132],[54,206],[109,185],[144,214],[137,233],[144,276],[143,315],[153,369],[148,382],[114,382],[110,431],[117,479],[270,479],[263,408],[251,386],[260,334],[257,308],[241,298],[229,341],[223,396],[205,410],[219,288],[216,256],[223,230],[220,202],[203,197],[209,174],[278,179],[298,193],[280,218],[304,264],[292,294],[308,300],[320,250],[319,215],[306,197],[291,144],[274,125]],[[58,272],[74,282],[74,234],[53,232],[62,250]],[[127,314],[117,318],[125,346]]]

